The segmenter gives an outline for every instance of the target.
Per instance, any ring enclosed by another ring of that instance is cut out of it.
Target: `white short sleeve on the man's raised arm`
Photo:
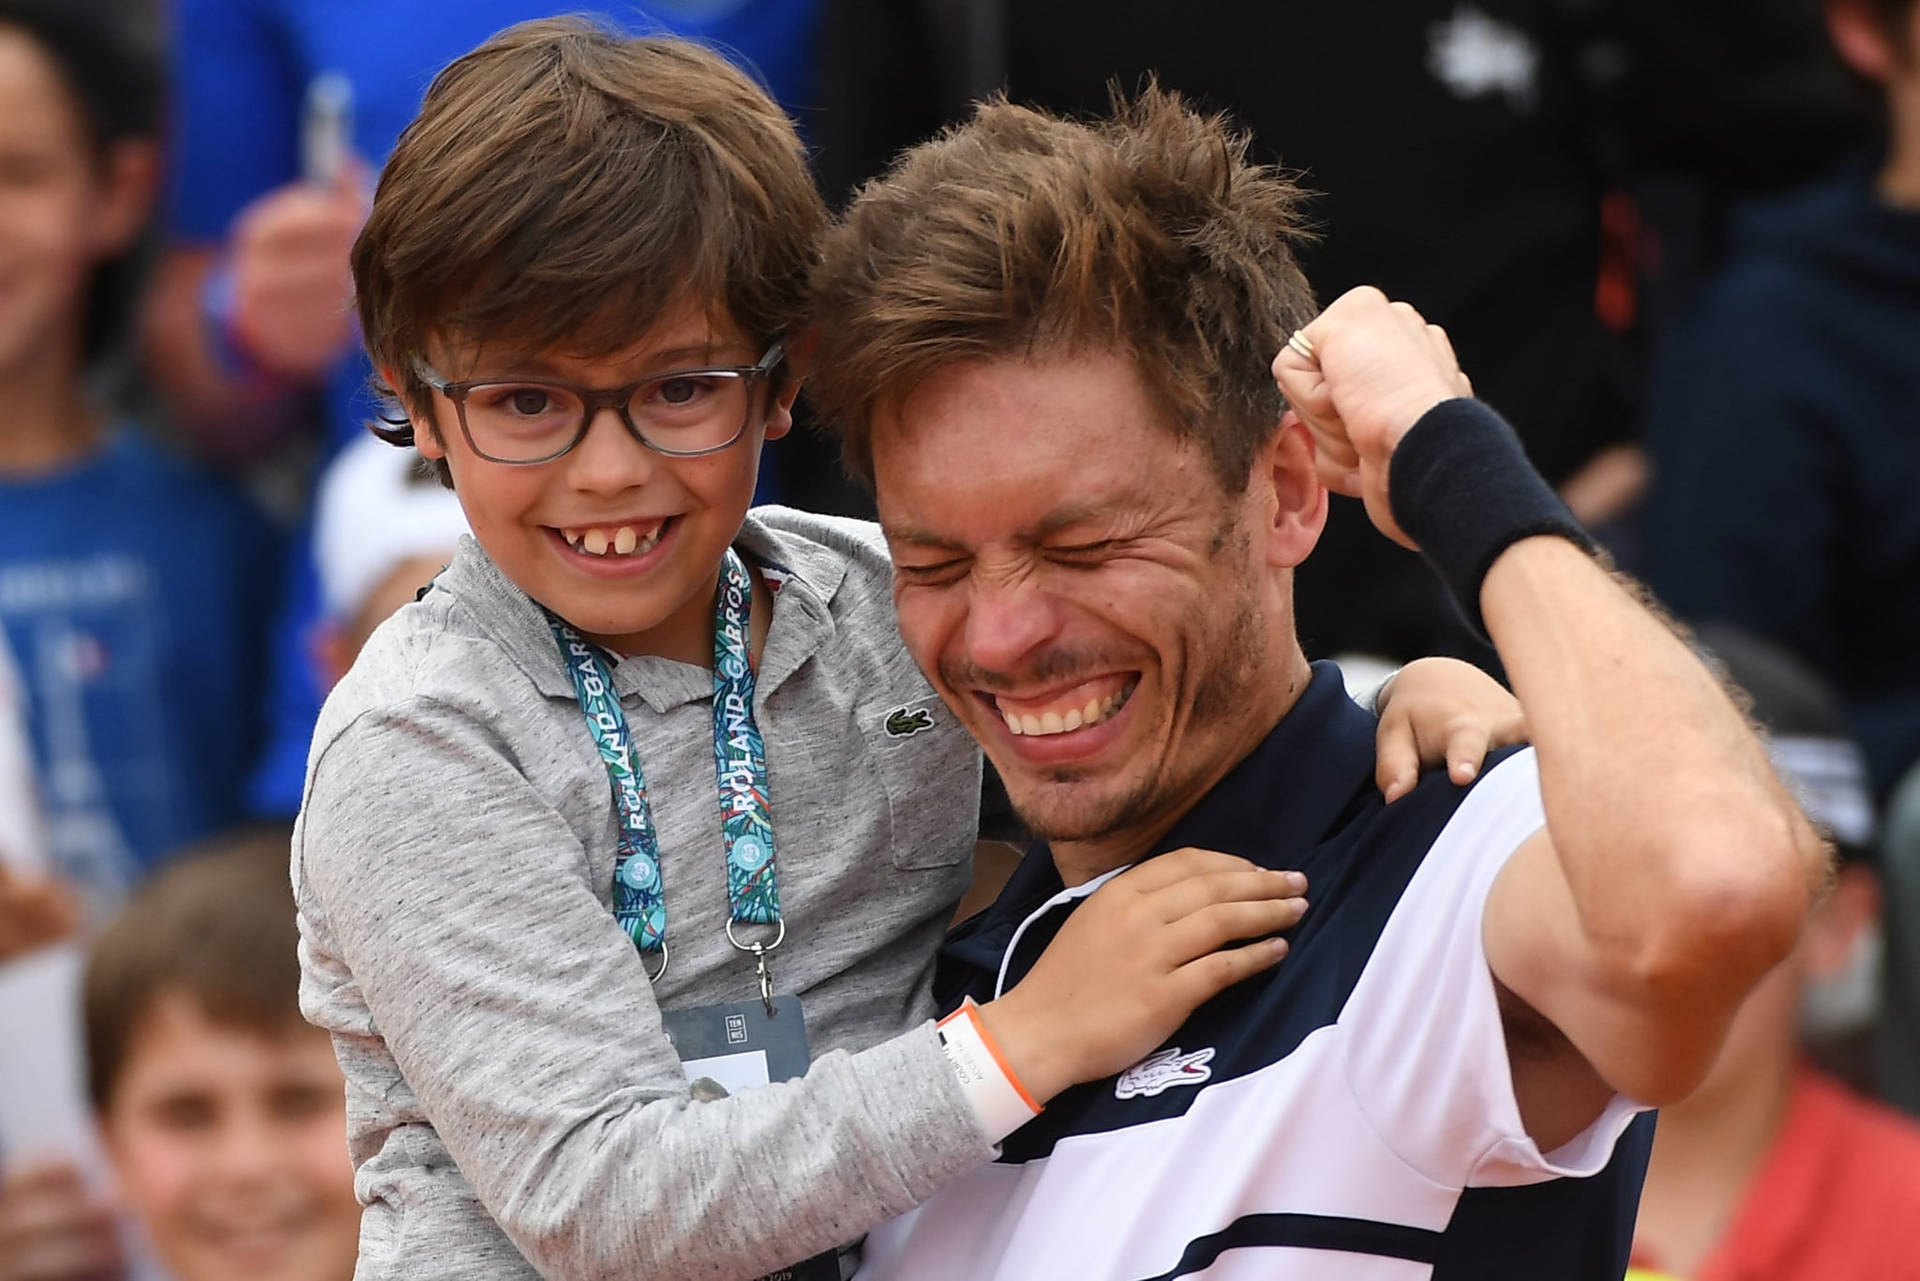
[[[1407,883],[1340,1012],[1348,1083],[1373,1129],[1448,1187],[1597,1173],[1640,1106],[1615,1095],[1542,1152],[1521,1124],[1482,922],[1494,878],[1546,826],[1532,749],[1461,801]]]

